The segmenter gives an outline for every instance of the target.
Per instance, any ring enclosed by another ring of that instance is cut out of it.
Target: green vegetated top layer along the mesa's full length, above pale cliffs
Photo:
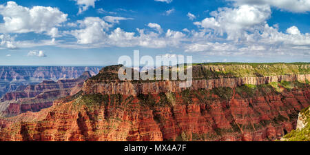
[[[118,69],[122,66],[123,65],[107,66],[91,79],[101,81],[118,81]],[[185,65],[185,68],[187,67],[188,66]],[[168,69],[169,79],[171,79],[172,73],[178,72],[178,70],[173,67],[169,67]],[[149,70],[149,72],[154,72],[154,79],[156,70],[158,70],[158,68],[152,71]],[[134,76],[133,71],[134,70],[132,69],[132,77]],[[192,74],[194,80],[310,74],[310,63],[193,63]]]

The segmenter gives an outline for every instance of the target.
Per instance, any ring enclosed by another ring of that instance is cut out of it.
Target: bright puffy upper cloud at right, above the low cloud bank
[[[257,25],[264,24],[271,15],[269,6],[242,5],[237,8],[219,8],[211,12],[211,16],[195,22],[201,28],[214,30],[216,34],[227,33],[227,39],[240,39],[245,30],[254,30]]]

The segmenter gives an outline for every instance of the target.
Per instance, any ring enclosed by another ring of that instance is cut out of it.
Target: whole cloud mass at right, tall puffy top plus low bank
[[[280,32],[278,25],[268,25],[271,8],[266,3],[241,3],[234,8],[218,8],[210,15],[194,22],[200,30],[189,32],[191,43],[185,45],[186,52],[261,56],[309,52],[309,33],[302,34],[295,25],[286,32]]]

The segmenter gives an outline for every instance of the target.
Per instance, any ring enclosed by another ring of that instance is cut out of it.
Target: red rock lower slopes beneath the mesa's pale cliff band
[[[68,96],[39,121],[0,130],[0,141],[271,141],[310,104],[308,84],[277,85]]]

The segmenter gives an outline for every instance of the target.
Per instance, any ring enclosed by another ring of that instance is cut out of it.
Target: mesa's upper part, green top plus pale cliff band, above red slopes
[[[224,63],[225,64],[225,63]],[[119,81],[117,70],[120,66],[103,68],[99,74],[83,84],[85,94],[158,94],[161,92],[181,92],[187,88],[179,87],[183,81]],[[112,71],[112,70],[114,71]],[[110,76],[112,75],[112,76]],[[105,80],[101,80],[104,77]],[[110,81],[107,79],[110,77]],[[251,84],[261,85],[280,81],[310,81],[309,64],[229,64],[193,65],[192,86],[189,90],[213,89],[215,87],[237,87]]]

